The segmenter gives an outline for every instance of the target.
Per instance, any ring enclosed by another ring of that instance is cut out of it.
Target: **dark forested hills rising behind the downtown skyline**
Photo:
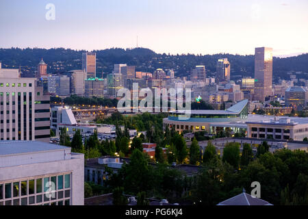
[[[27,66],[23,71],[34,72],[41,57],[49,65],[49,73],[66,72],[73,69],[81,69],[81,55],[84,51],[71,49],[0,49],[0,60],[8,67]],[[231,77],[242,75],[253,77],[254,55],[231,55],[228,53],[215,55],[200,54],[157,54],[150,49],[105,49],[94,51],[97,53],[97,72],[112,73],[114,64],[127,63],[136,66],[136,70],[151,72],[156,68],[173,68],[176,70],[176,77],[189,76],[191,70],[200,64],[207,68],[207,74],[214,76],[216,62],[219,58],[227,57],[231,63]],[[57,63],[58,62],[58,63]],[[61,62],[61,63],[59,63]],[[290,70],[303,71],[308,73],[308,54],[296,57],[277,58],[273,60],[274,79],[290,79],[287,72]],[[58,66],[57,66],[58,65]],[[59,68],[62,65],[62,68]],[[300,75],[298,75],[301,77]],[[104,75],[105,77],[105,75]],[[305,75],[303,76],[305,77]]]

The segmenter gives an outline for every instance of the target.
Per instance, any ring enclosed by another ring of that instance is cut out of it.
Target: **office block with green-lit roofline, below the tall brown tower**
[[[89,78],[85,81],[85,96],[92,98],[93,96],[103,98],[104,97],[104,79]]]

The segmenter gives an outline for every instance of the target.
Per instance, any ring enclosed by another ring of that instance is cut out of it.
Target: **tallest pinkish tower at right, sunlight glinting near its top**
[[[255,48],[255,101],[272,95],[272,48]]]

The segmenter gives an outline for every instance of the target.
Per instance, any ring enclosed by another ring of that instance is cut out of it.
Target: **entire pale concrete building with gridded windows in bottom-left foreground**
[[[0,205],[84,205],[84,154],[37,141],[0,149]]]

